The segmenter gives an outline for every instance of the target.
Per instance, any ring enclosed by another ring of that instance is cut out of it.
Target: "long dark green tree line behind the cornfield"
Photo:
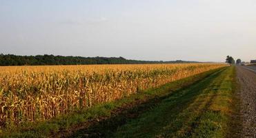
[[[195,61],[140,61],[124,57],[73,57],[55,55],[0,55],[0,66],[39,65],[90,65],[90,64],[139,64],[139,63],[195,63]]]

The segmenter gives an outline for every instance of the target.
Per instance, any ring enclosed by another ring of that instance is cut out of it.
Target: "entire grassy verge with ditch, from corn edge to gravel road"
[[[104,137],[222,137],[234,73],[233,67],[210,70],[50,121],[3,130],[0,137],[61,137],[67,132],[79,137],[88,130]]]

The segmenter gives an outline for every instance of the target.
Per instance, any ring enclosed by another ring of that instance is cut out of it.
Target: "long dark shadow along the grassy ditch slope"
[[[149,99],[139,105],[123,110],[112,117],[99,121],[88,128],[78,130],[70,137],[150,137],[167,126],[188,106],[193,103],[202,90],[206,89],[213,80],[224,70],[218,70],[199,81],[190,83],[189,86],[179,88],[170,94]],[[139,124],[139,119],[144,119]],[[146,121],[145,121],[146,120]],[[126,125],[129,122],[129,125]],[[176,122],[173,131],[182,127],[182,122]]]

